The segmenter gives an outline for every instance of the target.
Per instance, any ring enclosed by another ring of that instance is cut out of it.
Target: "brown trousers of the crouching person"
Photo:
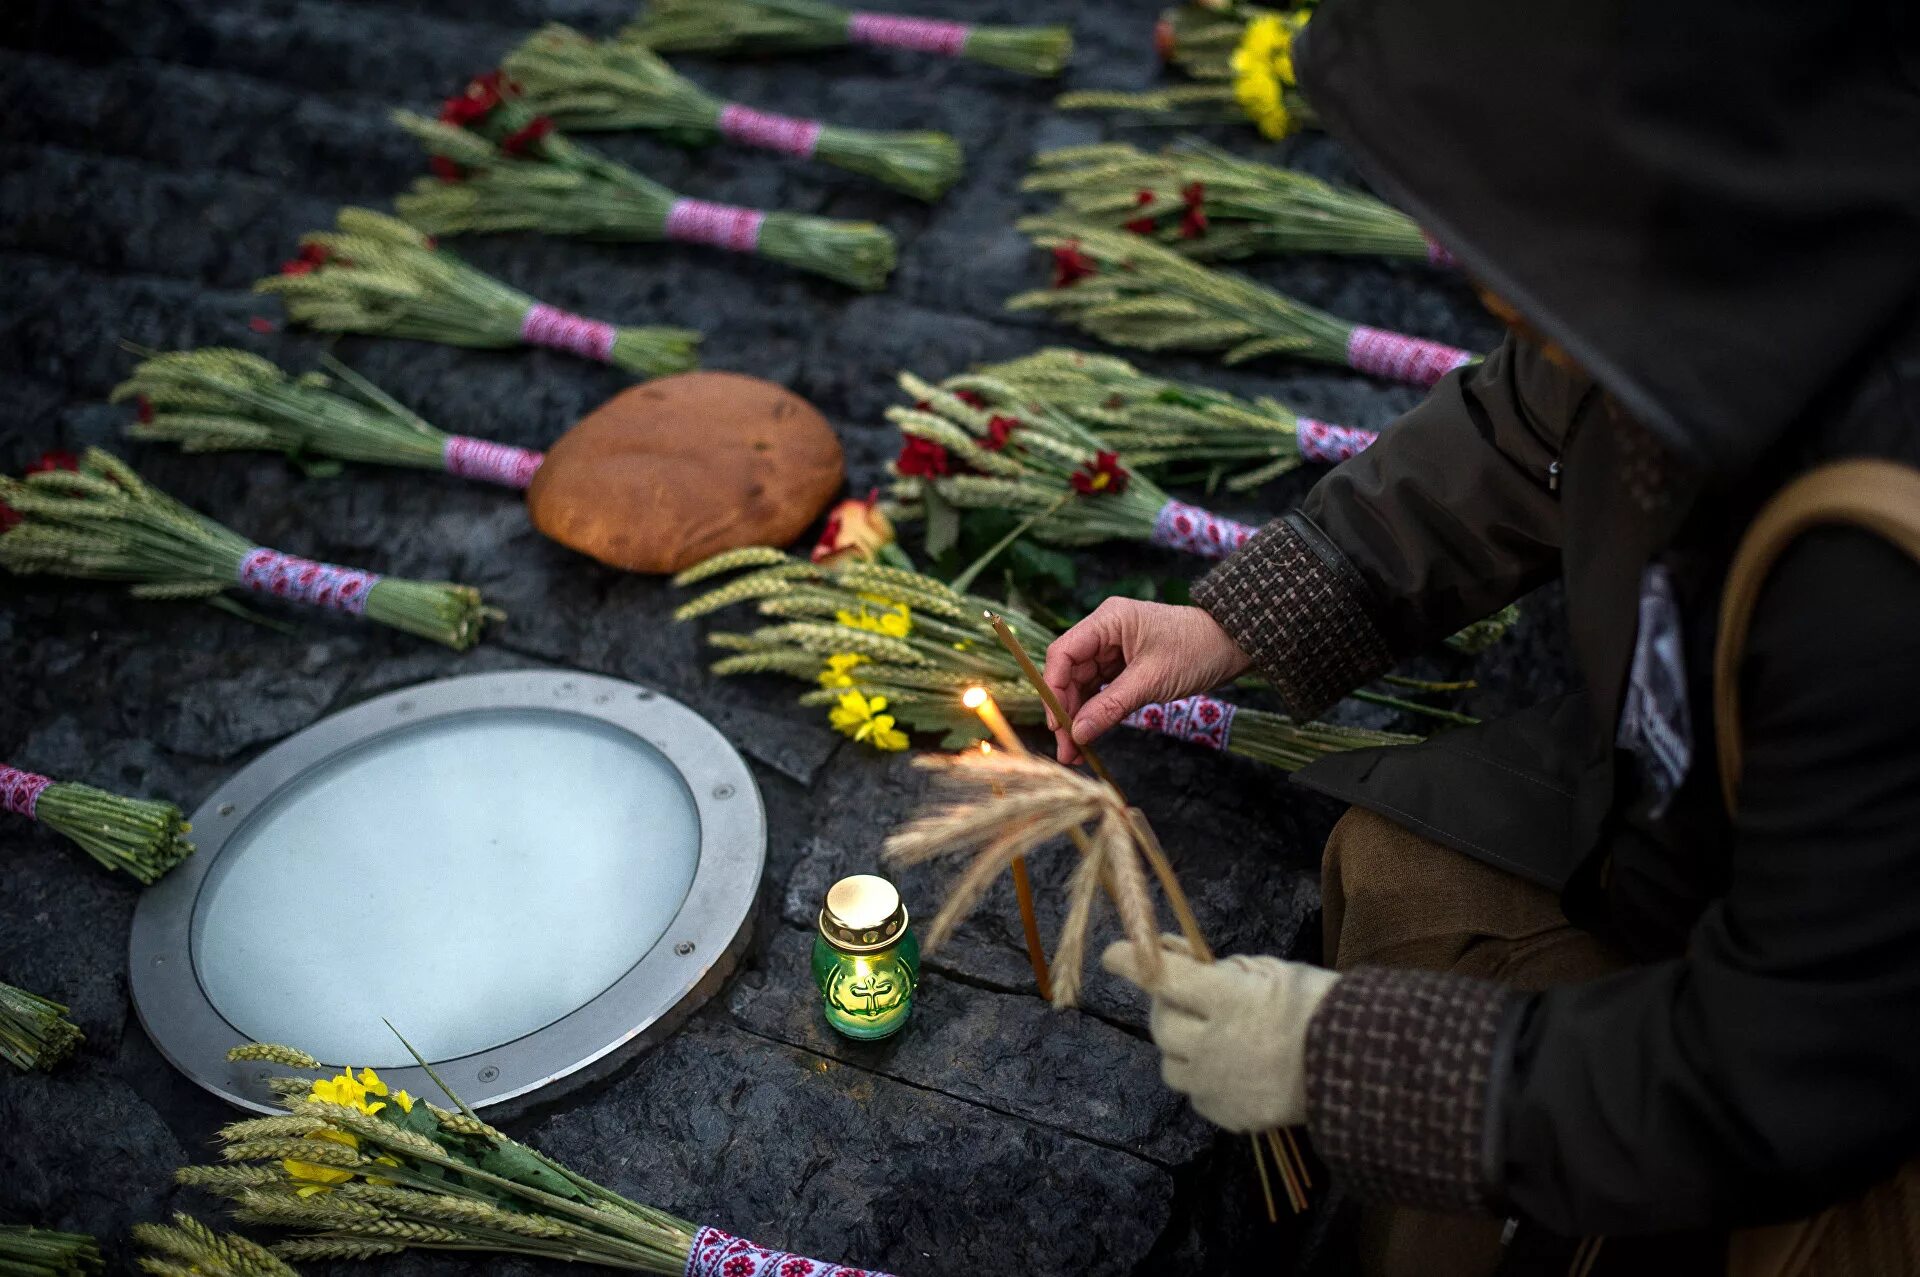
[[[1626,960],[1574,928],[1546,889],[1463,856],[1384,816],[1350,808],[1321,862],[1327,964],[1407,966],[1498,979],[1517,989],[1578,983]],[[1920,1273],[1914,1166],[1816,1217],[1736,1233],[1728,1277],[1895,1277]],[[1500,1264],[1501,1221],[1369,1206],[1369,1277],[1480,1277]],[[1605,1269],[1605,1250],[1601,1265]]]

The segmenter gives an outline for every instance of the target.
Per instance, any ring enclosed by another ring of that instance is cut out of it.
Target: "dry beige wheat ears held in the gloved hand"
[[[1150,974],[1158,972],[1160,924],[1142,858],[1152,862],[1160,847],[1144,816],[1112,785],[1006,751],[933,755],[916,759],[914,766],[935,774],[939,799],[887,839],[887,860],[966,858],[966,870],[927,928],[927,952],[954,933],[1016,858],[1071,837],[1081,858],[1068,879],[1068,916],[1054,947],[1054,1006],[1073,1006],[1079,993],[1092,904],[1102,885],[1119,914],[1119,929],[1144,954]]]

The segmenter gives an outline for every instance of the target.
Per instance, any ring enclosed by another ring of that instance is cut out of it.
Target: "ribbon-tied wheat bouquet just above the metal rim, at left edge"
[[[136,599],[213,599],[240,588],[365,614],[455,649],[472,647],[486,620],[501,614],[470,586],[380,576],[253,545],[98,447],[77,470],[0,478],[0,501],[21,518],[0,536],[0,566],[23,576],[131,582]]]

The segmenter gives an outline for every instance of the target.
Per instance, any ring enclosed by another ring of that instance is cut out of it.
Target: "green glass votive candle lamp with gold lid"
[[[885,878],[854,874],[828,891],[814,937],[814,983],[835,1033],[893,1037],[914,1010],[920,941]]]

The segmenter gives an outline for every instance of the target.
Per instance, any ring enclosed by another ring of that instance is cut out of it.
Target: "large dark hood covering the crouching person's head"
[[[1325,0],[1302,90],[1461,267],[1749,469],[1920,298],[1910,0]]]

